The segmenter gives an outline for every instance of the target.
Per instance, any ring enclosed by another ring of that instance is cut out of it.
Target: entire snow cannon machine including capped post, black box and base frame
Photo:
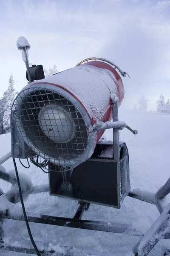
[[[121,76],[125,77],[126,73],[106,59],[87,58],[74,68],[45,78],[42,65],[28,65],[30,45],[26,38],[20,37],[17,47],[22,50],[29,83],[12,105],[11,152],[0,159],[1,165],[13,158],[16,176],[0,166],[0,178],[11,183],[5,195],[13,204],[21,201],[23,214],[0,210],[0,220],[2,224],[5,218],[26,221],[33,247],[28,246],[27,241],[22,241],[22,247],[4,242],[1,225],[0,248],[37,255],[82,255],[79,249],[66,246],[62,247],[62,253],[55,246],[38,249],[28,224],[35,222],[137,234],[142,238],[133,253],[147,256],[160,239],[170,239],[170,204],[165,208],[161,204],[170,193],[170,179],[152,196],[130,191],[129,154],[126,143],[119,142],[119,131],[123,128],[133,134],[137,131],[118,119],[118,108],[124,97]],[[113,142],[101,140],[105,129],[113,129]],[[32,186],[29,179],[22,176],[19,179],[15,158],[29,159],[47,172],[49,184]],[[79,201],[74,218],[26,214],[23,199],[38,192]],[[0,191],[0,195],[3,194]],[[120,209],[126,196],[155,204],[160,212],[144,235],[127,224],[81,219],[90,204]]]

